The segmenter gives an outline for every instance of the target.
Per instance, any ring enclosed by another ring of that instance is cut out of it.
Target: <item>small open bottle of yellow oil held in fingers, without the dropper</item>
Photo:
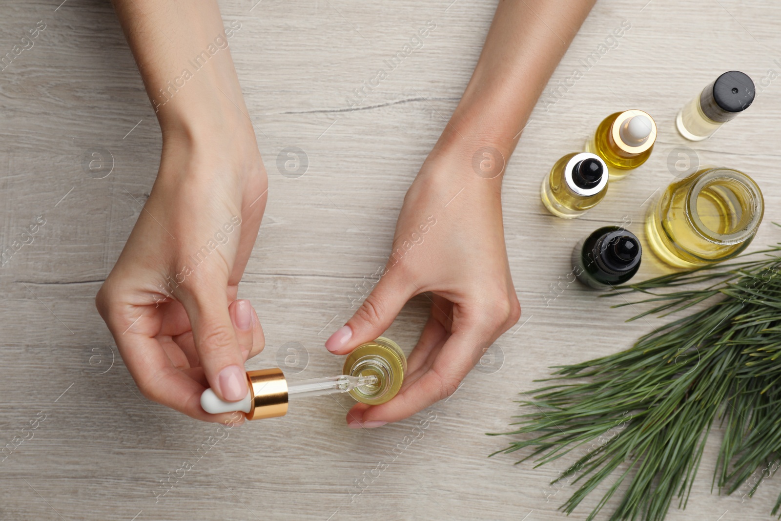
[[[355,348],[344,360],[343,374],[376,376],[377,383],[355,387],[348,391],[355,400],[380,405],[391,400],[404,382],[407,359],[396,342],[386,337],[366,342]]]

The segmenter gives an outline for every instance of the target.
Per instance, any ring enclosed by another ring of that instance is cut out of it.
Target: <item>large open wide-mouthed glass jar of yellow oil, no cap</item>
[[[678,268],[730,259],[751,243],[765,212],[759,187],[745,173],[704,166],[670,184],[650,205],[651,251]]]

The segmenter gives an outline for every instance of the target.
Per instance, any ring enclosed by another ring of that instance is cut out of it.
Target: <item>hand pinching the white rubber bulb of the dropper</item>
[[[144,396],[226,423],[235,416],[206,413],[200,396],[244,398],[244,362],[263,348],[257,313],[236,296],[268,180],[247,122],[163,136],[157,180],[96,305]]]

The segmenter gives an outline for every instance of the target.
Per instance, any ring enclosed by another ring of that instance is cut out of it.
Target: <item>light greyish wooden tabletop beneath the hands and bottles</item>
[[[571,77],[623,20],[631,28],[560,98],[537,104],[508,166],[505,233],[523,316],[497,341],[494,365],[398,424],[348,430],[349,398],[315,398],[282,419],[230,431],[198,459],[216,426],[140,398],[93,305],[152,187],[159,129],[109,3],[59,1],[0,7],[0,55],[38,20],[46,25],[0,72],[2,244],[36,216],[46,221],[0,269],[0,444],[45,415],[34,437],[0,462],[0,519],[565,519],[556,509],[573,489],[547,486],[563,466],[488,459],[508,440],[484,433],[508,429],[513,400],[547,366],[627,348],[654,322],[623,323],[632,309],[609,309],[576,285],[553,298],[572,244],[604,223],[633,219],[640,230],[644,202],[674,179],[668,155],[682,145],[761,184],[767,209],[755,246],[781,235],[769,224],[781,219],[781,80],[767,77],[781,72],[781,4],[604,0],[549,87]],[[289,371],[302,369],[292,377],[325,376],[341,360],[323,341],[351,314],[355,284],[383,264],[405,190],[469,80],[495,2],[256,1],[222,2],[226,23],[241,22],[231,52],[272,194],[240,290],[258,308],[268,342],[250,367],[274,366],[280,350],[298,345],[308,362],[288,359]],[[423,48],[351,112],[351,91],[427,20],[437,29]],[[758,84],[767,77],[756,102],[710,140],[686,143],[674,129],[677,109],[732,69]],[[537,191],[552,162],[580,148],[604,116],[628,108],[657,120],[647,164],[583,219],[540,213]],[[308,157],[297,179],[276,166],[290,146]],[[84,157],[101,151],[113,168],[95,179]],[[645,262],[640,277],[656,273]],[[426,299],[416,298],[389,336],[408,351],[426,312]],[[435,419],[405,440],[426,418]],[[718,438],[688,508],[668,519],[769,517],[778,480],[743,504],[709,493]],[[160,480],[196,459],[156,502]]]

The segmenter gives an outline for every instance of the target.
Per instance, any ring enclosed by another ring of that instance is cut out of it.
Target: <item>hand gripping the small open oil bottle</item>
[[[395,422],[450,396],[521,315],[502,227],[504,162],[481,153],[480,146],[453,146],[429,155],[405,197],[380,281],[326,341],[329,351],[345,355],[383,334],[410,298],[430,294],[430,317],[401,391],[383,405],[355,405],[351,427]],[[485,175],[473,167],[476,154],[501,161],[495,177],[490,168]]]

